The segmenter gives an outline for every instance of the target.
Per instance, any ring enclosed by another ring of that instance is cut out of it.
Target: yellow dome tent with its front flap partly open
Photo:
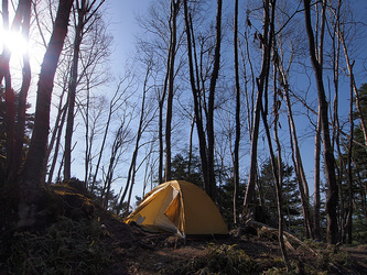
[[[218,208],[199,187],[184,180],[172,180],[152,189],[127,223],[136,222],[153,231],[179,234],[227,234]]]

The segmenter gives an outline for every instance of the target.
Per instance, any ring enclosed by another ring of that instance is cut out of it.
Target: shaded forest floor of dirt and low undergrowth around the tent
[[[56,189],[64,205],[56,222],[42,230],[1,229],[0,275],[367,274],[367,245],[328,246],[289,235],[292,271],[287,273],[276,230],[252,228],[238,238],[233,232],[182,240],[127,226],[97,204],[90,216],[90,197],[69,187]]]

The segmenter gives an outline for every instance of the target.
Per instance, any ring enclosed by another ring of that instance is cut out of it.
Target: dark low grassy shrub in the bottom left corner
[[[43,234],[15,232],[7,262],[11,274],[100,274],[109,262],[107,248],[98,242],[97,221],[61,218]]]

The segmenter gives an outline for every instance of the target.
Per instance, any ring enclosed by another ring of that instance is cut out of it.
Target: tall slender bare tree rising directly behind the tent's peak
[[[149,9],[148,16],[138,18],[139,24],[147,34],[139,38],[139,51],[143,55],[154,53],[154,69],[158,72],[155,91],[159,106],[159,183],[171,179],[173,99],[177,91],[175,78],[182,63],[177,56],[182,44],[182,28],[179,20],[182,1],[170,0],[169,2],[170,4],[166,0],[154,2]]]

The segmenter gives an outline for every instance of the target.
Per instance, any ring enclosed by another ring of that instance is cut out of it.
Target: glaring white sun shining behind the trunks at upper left
[[[1,52],[8,47],[11,55],[21,58],[29,50],[29,43],[21,32],[0,31]]]

